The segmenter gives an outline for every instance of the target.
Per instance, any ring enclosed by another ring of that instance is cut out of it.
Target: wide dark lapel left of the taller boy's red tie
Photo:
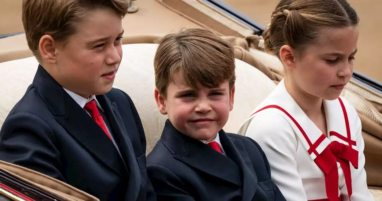
[[[95,158],[121,175],[118,151],[100,126],[63,90],[40,65],[33,85],[55,119]],[[118,156],[118,157],[117,157]]]

